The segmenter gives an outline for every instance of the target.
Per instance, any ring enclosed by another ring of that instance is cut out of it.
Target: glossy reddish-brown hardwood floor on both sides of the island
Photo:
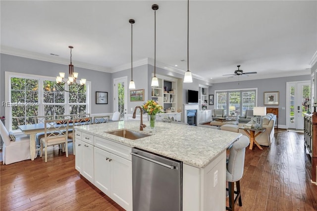
[[[304,135],[275,130],[271,148],[246,149],[241,179],[243,207],[237,211],[316,211],[317,186],[311,183],[311,162],[304,151]],[[0,210],[123,210],[75,170],[69,157],[51,147],[43,158],[0,165]]]

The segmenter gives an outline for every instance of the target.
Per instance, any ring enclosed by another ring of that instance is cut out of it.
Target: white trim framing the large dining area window
[[[42,87],[42,82],[44,80],[51,80],[51,81],[55,81],[55,77],[52,76],[43,76],[43,75],[34,75],[34,74],[26,74],[26,73],[18,73],[18,72],[8,72],[8,71],[4,71],[4,84],[5,84],[5,88],[4,88],[4,101],[5,102],[10,102],[9,97],[11,96],[10,91],[11,91],[11,84],[10,84],[10,78],[11,77],[23,77],[23,78],[28,78],[28,79],[39,79],[40,83],[39,83],[39,96],[43,96],[43,87]],[[86,81],[86,89],[87,89],[87,95],[86,95],[86,102],[87,102],[87,106],[86,106],[86,110],[87,113],[91,113],[91,81]],[[65,100],[68,101],[68,95],[65,95]],[[40,106],[40,110],[39,110],[39,114],[43,114],[44,113],[44,106],[43,106],[43,98],[39,99],[39,106]],[[43,108],[42,108],[43,107]],[[69,107],[66,106],[65,107],[65,112],[69,113]],[[6,129],[8,131],[12,130],[11,124],[12,124],[12,118],[10,115],[10,107],[4,107],[4,113],[5,113],[5,120],[4,123],[6,125]],[[21,132],[22,133],[22,132]]]

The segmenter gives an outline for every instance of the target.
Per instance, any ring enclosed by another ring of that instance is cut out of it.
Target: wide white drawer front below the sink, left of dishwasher
[[[130,155],[131,147],[127,147],[122,144],[118,144],[113,141],[107,140],[105,138],[100,138],[97,136],[94,137],[94,143],[95,147],[98,147],[102,150],[106,150],[122,158],[132,160],[132,157]]]

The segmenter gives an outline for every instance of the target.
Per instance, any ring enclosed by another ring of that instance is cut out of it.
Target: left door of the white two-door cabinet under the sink
[[[110,196],[110,153],[95,147],[95,186]]]

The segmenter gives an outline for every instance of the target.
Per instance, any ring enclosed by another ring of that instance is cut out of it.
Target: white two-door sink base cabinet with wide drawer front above
[[[95,185],[125,210],[132,210],[131,148],[95,136]]]

